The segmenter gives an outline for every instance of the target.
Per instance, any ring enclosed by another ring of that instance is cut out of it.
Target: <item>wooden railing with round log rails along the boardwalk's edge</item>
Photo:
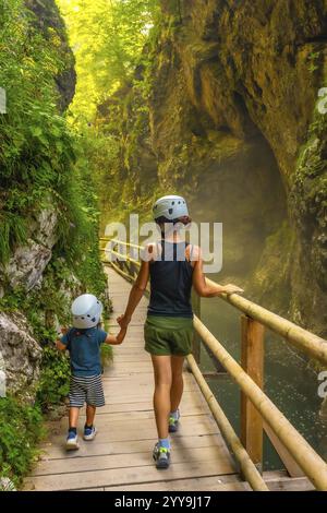
[[[110,253],[117,258],[116,261],[110,259],[110,265],[126,279],[134,282],[141,263],[131,251],[135,253],[143,248],[108,238],[101,238],[100,243],[105,255]],[[199,302],[196,302],[194,308],[194,327],[197,336],[194,339],[193,356],[187,358],[187,362],[222,436],[240,464],[242,474],[253,489],[267,490],[261,477],[265,430],[291,476],[305,475],[317,490],[327,490],[327,464],[263,392],[265,329],[281,335],[287,343],[325,366],[327,366],[327,342],[243,296],[233,294],[220,297],[242,313],[241,365],[203,324],[199,319]],[[241,389],[241,440],[199,370],[201,343],[205,344]]]

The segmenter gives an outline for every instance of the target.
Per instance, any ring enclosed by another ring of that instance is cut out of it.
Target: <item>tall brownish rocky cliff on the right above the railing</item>
[[[194,219],[223,223],[220,278],[326,335],[327,2],[160,4],[148,114],[135,86],[120,93],[125,193],[184,193]]]

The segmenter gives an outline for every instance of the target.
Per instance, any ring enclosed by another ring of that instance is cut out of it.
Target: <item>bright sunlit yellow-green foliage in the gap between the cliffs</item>
[[[157,0],[58,0],[76,57],[77,88],[72,111],[83,124],[97,105],[129,85],[140,63]]]

